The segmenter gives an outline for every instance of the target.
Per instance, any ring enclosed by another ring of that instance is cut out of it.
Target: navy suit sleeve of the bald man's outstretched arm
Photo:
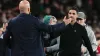
[[[56,24],[56,25],[47,25],[39,21],[38,18],[36,18],[35,24],[38,30],[47,32],[54,37],[58,37],[61,34],[61,32],[64,31],[64,29],[66,28],[66,25],[64,22]]]

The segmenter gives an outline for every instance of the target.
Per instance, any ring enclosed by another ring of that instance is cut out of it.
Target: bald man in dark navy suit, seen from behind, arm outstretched
[[[30,15],[30,3],[27,0],[19,3],[19,10],[20,14],[8,23],[4,34],[4,47],[9,45],[11,36],[11,56],[45,56],[41,31],[57,32],[59,35],[65,28],[65,23],[50,26],[40,22],[38,18]]]

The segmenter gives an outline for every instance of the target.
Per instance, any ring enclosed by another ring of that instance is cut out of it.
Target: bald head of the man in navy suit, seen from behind
[[[20,10],[20,13],[29,14],[30,13],[30,3],[27,0],[22,0],[19,3],[19,10]]]

